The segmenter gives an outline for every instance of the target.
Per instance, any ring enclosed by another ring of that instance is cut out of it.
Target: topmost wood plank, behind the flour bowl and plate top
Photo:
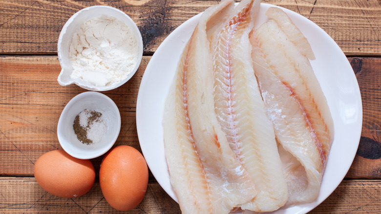
[[[103,4],[124,11],[138,25],[144,54],[151,55],[177,26],[218,1],[107,0],[0,1],[0,54],[57,54],[63,24],[82,8]],[[378,0],[266,0],[293,10],[326,31],[346,55],[381,56]]]

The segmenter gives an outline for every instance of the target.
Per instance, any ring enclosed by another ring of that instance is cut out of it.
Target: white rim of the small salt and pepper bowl
[[[117,131],[116,131],[116,134],[115,136],[112,137],[112,140],[109,141],[109,143],[104,143],[103,146],[102,146],[102,150],[100,150],[99,152],[93,152],[91,150],[91,152],[85,152],[85,153],[82,153],[81,155],[76,155],[72,152],[72,150],[69,150],[68,147],[66,146],[66,143],[65,143],[65,137],[63,137],[63,133],[62,133],[62,129],[64,128],[63,127],[63,121],[64,121],[64,117],[66,116],[67,112],[68,112],[68,109],[70,107],[72,107],[74,104],[78,104],[78,100],[80,100],[81,98],[84,98],[86,96],[98,96],[100,97],[101,99],[105,99],[107,100],[110,105],[111,105],[111,108],[109,108],[108,110],[111,110],[111,111],[114,111],[116,113],[116,116],[117,116],[117,121],[113,121],[113,123],[116,124],[117,126]],[[96,157],[99,157],[103,154],[105,154],[108,150],[110,150],[112,148],[112,146],[115,144],[116,140],[118,139],[119,137],[119,133],[120,133],[120,129],[121,129],[121,116],[120,116],[120,111],[119,111],[119,108],[117,107],[117,105],[115,104],[115,102],[109,98],[107,95],[103,94],[103,93],[100,93],[100,92],[96,92],[96,91],[85,91],[85,92],[82,92],[80,94],[77,94],[76,96],[74,96],[67,104],[66,106],[63,108],[62,112],[61,112],[61,115],[60,115],[60,118],[58,120],[58,124],[57,124],[57,138],[58,138],[58,141],[62,147],[62,149],[67,152],[69,155],[75,157],[75,158],[78,158],[78,159],[92,159],[92,158],[96,158]]]

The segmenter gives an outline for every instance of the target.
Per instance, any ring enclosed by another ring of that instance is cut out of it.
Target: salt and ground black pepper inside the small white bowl
[[[106,118],[101,112],[85,109],[74,119],[73,129],[83,144],[98,143],[106,134]]]

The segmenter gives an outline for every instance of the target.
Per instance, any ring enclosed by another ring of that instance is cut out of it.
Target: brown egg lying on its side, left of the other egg
[[[34,165],[37,183],[59,197],[79,197],[94,184],[95,170],[90,160],[77,159],[64,150],[43,154]]]

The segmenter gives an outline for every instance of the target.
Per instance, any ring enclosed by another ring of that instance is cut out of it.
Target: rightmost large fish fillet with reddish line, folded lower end
[[[334,133],[312,66],[289,36],[274,20],[250,35],[255,75],[281,145],[289,190],[287,205],[318,197]]]

